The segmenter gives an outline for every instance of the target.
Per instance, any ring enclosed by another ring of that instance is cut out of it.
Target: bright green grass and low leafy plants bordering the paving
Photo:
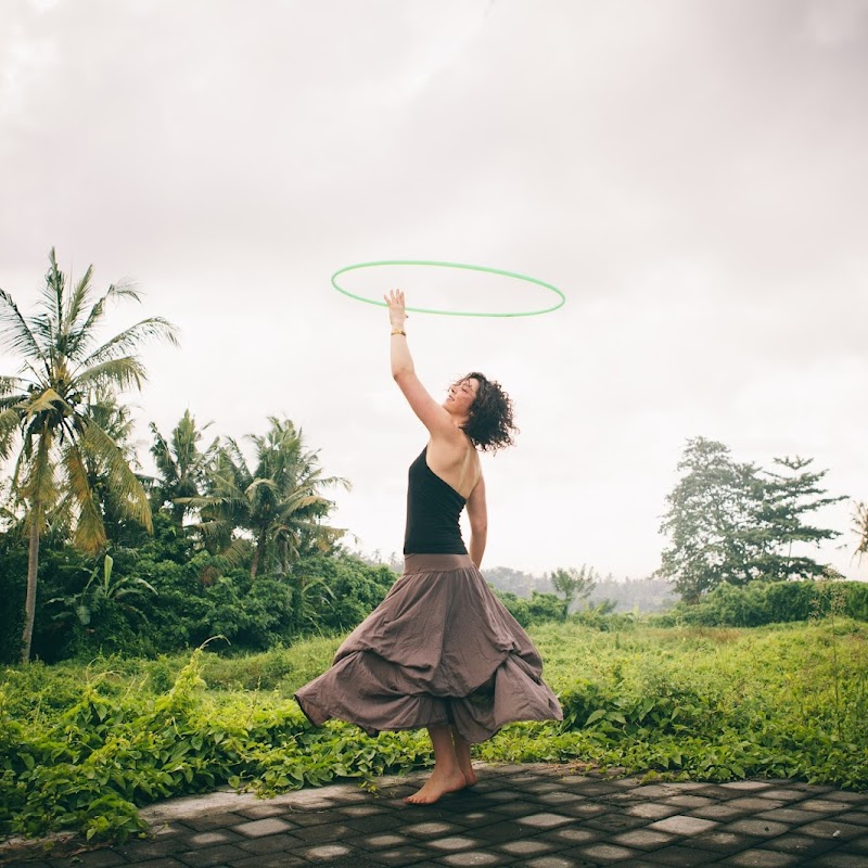
[[[556,598],[557,599],[557,598]],[[834,598],[832,607],[838,605]],[[582,760],[699,780],[794,777],[868,789],[868,629],[841,615],[776,629],[534,628],[563,723],[514,724],[490,762]],[[291,699],[339,638],[0,679],[0,834],[123,839],[137,808],[218,786],[270,795],[430,765],[423,731],[311,728]]]

